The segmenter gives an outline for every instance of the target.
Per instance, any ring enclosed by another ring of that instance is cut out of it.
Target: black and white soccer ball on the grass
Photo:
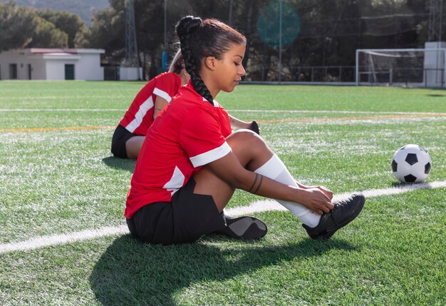
[[[393,174],[400,182],[419,183],[429,175],[432,161],[424,148],[406,145],[393,154],[391,165]]]

